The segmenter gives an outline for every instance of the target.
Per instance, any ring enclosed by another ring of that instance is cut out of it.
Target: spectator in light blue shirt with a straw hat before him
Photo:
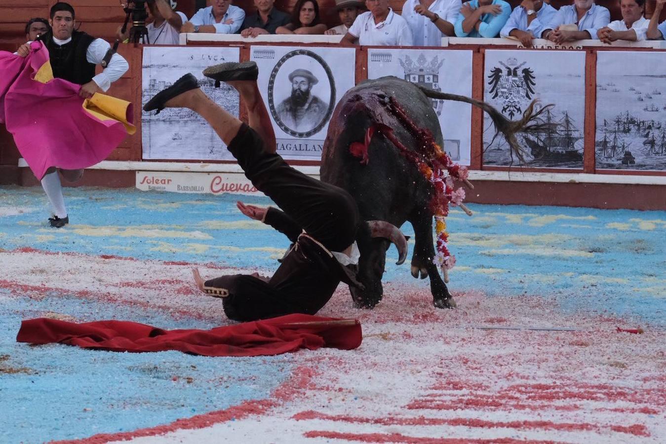
[[[557,45],[575,40],[596,40],[597,31],[608,25],[611,13],[603,6],[595,5],[594,0],[574,0],[573,5],[559,8],[553,20],[543,28],[542,39],[548,39]],[[561,25],[573,25],[577,31],[561,28]]]

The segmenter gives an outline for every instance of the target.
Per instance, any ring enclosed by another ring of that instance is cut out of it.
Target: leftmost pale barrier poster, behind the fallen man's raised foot
[[[182,75],[191,73],[210,99],[238,116],[236,90],[224,83],[214,88],[214,81],[204,77],[202,71],[210,65],[239,60],[238,47],[145,47],[141,106]],[[165,109],[157,115],[155,111],[143,112],[141,144],[144,159],[234,160],[210,125],[188,109]]]

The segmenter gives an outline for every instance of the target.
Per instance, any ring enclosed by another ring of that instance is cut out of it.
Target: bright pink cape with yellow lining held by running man
[[[52,78],[42,43],[31,49],[25,58],[0,51],[0,123],[39,179],[51,166],[77,170],[101,162],[133,132],[131,103],[97,94],[115,102],[111,113],[100,111],[96,97],[90,103],[79,97],[80,85]]]

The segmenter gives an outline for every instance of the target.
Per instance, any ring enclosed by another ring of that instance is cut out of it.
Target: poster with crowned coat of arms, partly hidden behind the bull
[[[472,97],[472,51],[446,49],[368,49],[368,79],[394,75],[424,87]],[[444,149],[456,162],[470,164],[472,105],[433,100]]]

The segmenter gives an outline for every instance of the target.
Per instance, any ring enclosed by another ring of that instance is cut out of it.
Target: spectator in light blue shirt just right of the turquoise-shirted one
[[[523,0],[513,9],[506,25],[500,31],[500,37],[515,37],[525,48],[532,46],[532,39],[541,37],[543,27],[550,23],[557,14],[553,8],[543,0]]]

